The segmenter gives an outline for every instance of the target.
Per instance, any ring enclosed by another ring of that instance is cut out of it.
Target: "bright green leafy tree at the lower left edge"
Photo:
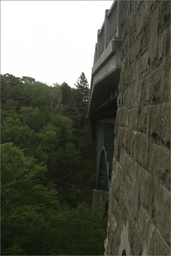
[[[25,158],[22,150],[12,143],[1,145],[3,255],[33,255],[33,246],[39,246],[44,226],[47,226],[46,218],[50,212],[59,210],[57,191],[39,184],[45,172],[46,166],[35,164],[33,158]]]

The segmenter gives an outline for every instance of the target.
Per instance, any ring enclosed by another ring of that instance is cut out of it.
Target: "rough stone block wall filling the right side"
[[[171,255],[170,1],[124,1],[122,26],[105,255]]]

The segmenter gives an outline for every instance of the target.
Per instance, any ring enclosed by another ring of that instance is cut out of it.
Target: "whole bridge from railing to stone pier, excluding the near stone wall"
[[[97,149],[97,177],[93,204],[105,204],[106,199],[103,198],[106,198],[106,193],[110,191],[121,65],[122,5],[123,1],[114,1],[110,10],[105,11],[105,19],[98,30],[95,46],[88,107],[92,140],[96,141]]]

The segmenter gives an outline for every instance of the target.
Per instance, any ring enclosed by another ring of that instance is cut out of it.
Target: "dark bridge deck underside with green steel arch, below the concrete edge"
[[[117,112],[118,82],[120,73],[114,72],[113,77],[103,81],[102,85],[94,86],[94,102],[90,104],[89,118],[92,124],[93,140],[96,140],[97,177],[96,189],[110,191],[112,159],[114,152],[114,126]],[[99,91],[99,88],[104,88]],[[95,93],[96,92],[96,93]],[[101,94],[100,94],[101,92]]]

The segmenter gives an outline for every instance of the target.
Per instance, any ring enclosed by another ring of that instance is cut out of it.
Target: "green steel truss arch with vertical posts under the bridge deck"
[[[106,188],[110,191],[112,159],[114,152],[115,118],[98,120],[96,122],[97,145],[97,183],[96,189]]]

